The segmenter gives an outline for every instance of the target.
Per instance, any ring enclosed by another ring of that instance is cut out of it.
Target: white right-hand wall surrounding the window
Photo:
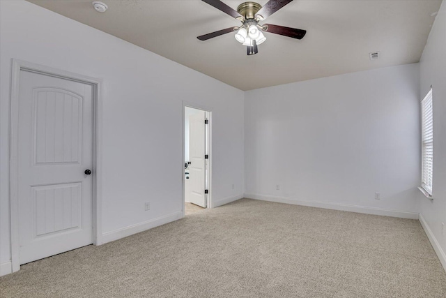
[[[440,6],[420,61],[420,99],[432,85],[433,200],[420,194],[420,214],[446,269],[446,3]]]

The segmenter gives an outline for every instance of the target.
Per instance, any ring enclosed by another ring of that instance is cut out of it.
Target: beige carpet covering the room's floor
[[[239,200],[0,278],[1,297],[446,297],[418,221]]]

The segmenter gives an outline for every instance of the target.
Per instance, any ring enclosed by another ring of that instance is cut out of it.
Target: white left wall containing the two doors
[[[241,198],[243,91],[26,1],[2,0],[0,13],[2,274],[10,266],[8,124],[13,58],[103,79],[106,241],[147,228],[157,218],[181,214],[182,100],[213,112],[213,201]],[[146,201],[151,202],[150,211],[144,211]]]

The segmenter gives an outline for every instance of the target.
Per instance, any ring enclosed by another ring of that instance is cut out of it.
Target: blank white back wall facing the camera
[[[419,80],[410,64],[245,92],[245,196],[417,218]]]

